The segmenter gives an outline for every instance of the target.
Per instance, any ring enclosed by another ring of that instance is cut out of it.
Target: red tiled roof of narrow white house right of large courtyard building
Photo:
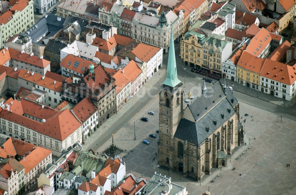
[[[72,108],[72,111],[82,123],[89,119],[97,110],[98,108],[96,108],[89,97],[83,98],[83,100]]]

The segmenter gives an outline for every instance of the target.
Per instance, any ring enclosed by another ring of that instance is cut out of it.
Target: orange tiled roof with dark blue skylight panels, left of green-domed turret
[[[62,60],[60,65],[64,68],[68,68],[72,71],[78,72],[83,75],[86,71],[85,67],[86,66],[89,67],[91,63],[92,63],[91,61],[83,59],[82,57],[69,54]]]

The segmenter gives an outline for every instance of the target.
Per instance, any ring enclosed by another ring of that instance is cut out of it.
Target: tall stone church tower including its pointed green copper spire
[[[173,39],[173,25],[170,33],[170,49],[165,81],[159,93],[159,141],[158,164],[173,170],[173,137],[183,118],[183,84],[177,77],[176,57]]]

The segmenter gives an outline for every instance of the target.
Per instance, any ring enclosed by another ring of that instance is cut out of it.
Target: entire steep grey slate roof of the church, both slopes
[[[185,118],[181,119],[174,137],[200,146],[207,137],[236,114],[233,108],[236,103],[237,99],[232,92],[226,89],[225,94],[221,83],[216,82],[207,89],[205,96],[197,98],[189,105],[189,109],[197,122]]]

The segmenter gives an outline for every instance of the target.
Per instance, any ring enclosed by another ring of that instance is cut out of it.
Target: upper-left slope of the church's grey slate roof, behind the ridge
[[[197,100],[189,105],[189,109],[194,119],[198,120],[202,115],[213,108],[215,104],[221,101],[224,97],[225,93],[220,82],[216,82],[212,85],[212,87],[208,87],[207,92],[204,95],[197,98]]]

